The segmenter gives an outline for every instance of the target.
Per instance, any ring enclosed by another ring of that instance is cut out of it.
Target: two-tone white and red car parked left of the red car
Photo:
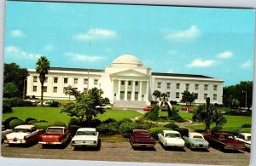
[[[14,144],[30,144],[38,142],[39,136],[43,134],[42,129],[36,129],[34,125],[23,124],[16,126],[12,133],[5,135],[4,143]]]

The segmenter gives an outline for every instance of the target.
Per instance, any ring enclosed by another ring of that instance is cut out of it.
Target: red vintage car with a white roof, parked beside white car
[[[63,146],[70,140],[71,134],[69,130],[61,126],[52,126],[46,130],[44,135],[39,138],[39,144],[43,147],[47,145]]]

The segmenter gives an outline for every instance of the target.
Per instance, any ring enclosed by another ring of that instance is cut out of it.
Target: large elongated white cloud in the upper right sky
[[[169,33],[165,36],[168,40],[175,40],[175,41],[190,41],[194,40],[195,38],[201,35],[201,31],[197,28],[197,26],[191,26],[187,30],[183,31],[175,31]]]

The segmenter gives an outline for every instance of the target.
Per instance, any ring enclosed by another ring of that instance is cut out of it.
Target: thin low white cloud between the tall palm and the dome
[[[95,62],[99,60],[103,60],[102,56],[96,56],[96,55],[87,55],[87,54],[77,54],[77,53],[65,53],[65,55],[69,56],[71,60],[75,61],[90,61]]]

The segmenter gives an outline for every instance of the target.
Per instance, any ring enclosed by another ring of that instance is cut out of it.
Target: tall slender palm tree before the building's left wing
[[[49,72],[49,60],[47,60],[47,58],[43,55],[38,59],[36,65],[36,71],[39,73],[39,80],[41,83],[41,106],[43,106],[44,81],[46,74]]]

